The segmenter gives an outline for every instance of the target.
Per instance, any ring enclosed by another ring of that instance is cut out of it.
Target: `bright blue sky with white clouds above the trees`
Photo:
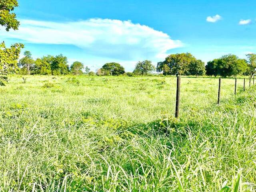
[[[34,58],[64,54],[92,70],[138,60],[154,64],[191,52],[207,62],[224,54],[256,52],[255,1],[238,0],[19,0],[19,31],[1,41],[23,42]]]

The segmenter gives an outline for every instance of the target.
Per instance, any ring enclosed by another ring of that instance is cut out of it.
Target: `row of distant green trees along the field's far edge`
[[[87,66],[84,68],[82,62],[74,62],[68,66],[67,57],[62,54],[58,56],[43,56],[32,59],[29,51],[24,52],[24,58],[19,61],[21,74],[40,75],[65,75],[65,74],[89,74],[98,76],[118,76],[126,74],[128,76],[148,75],[152,72],[159,72],[163,75],[183,75],[183,76],[252,76],[256,69],[256,54],[247,54],[248,60],[240,59],[236,55],[228,54],[221,58],[209,61],[205,66],[202,60],[196,59],[190,53],[170,54],[162,62],[158,62],[156,68],[150,60],[137,62],[133,72],[125,72],[122,65],[116,62],[106,63],[96,73],[90,71]],[[84,72],[83,72],[84,70]]]

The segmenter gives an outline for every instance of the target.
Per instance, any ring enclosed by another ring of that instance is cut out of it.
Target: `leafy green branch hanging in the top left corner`
[[[0,0],[0,25],[4,26],[6,31],[18,30],[20,25],[16,19],[16,14],[11,13],[15,7],[18,7],[17,0]]]

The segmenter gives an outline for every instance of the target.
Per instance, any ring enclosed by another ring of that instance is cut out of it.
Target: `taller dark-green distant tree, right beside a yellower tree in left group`
[[[51,64],[53,75],[66,75],[69,72],[68,58],[62,54],[53,58]]]

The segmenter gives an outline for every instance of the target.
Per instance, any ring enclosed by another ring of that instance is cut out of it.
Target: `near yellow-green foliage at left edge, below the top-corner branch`
[[[5,85],[7,75],[18,72],[18,59],[23,44],[14,44],[6,48],[4,43],[0,44],[0,85]]]

